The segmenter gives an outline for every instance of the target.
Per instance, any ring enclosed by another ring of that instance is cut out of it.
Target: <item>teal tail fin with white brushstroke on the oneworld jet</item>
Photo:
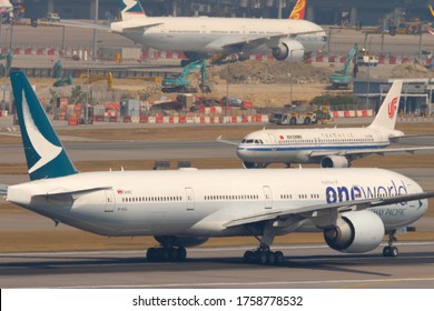
[[[11,71],[10,80],[30,180],[77,173],[24,72]]]

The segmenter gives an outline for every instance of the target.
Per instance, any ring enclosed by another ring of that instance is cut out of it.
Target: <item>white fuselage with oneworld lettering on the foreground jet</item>
[[[61,187],[60,187],[61,185]],[[302,207],[421,192],[413,180],[379,169],[88,172],[8,188],[7,200],[102,235],[251,235],[230,220]],[[423,215],[426,200],[372,208],[385,229]],[[303,224],[283,225],[285,234]]]

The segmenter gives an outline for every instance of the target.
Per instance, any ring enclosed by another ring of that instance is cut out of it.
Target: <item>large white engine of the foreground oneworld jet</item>
[[[336,251],[362,253],[378,247],[384,233],[382,219],[365,210],[344,213],[335,228],[324,230],[324,239]]]

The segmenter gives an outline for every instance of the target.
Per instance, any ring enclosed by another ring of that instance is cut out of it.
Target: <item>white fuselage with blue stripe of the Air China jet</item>
[[[400,136],[401,131],[377,128],[262,130],[241,141],[237,156],[257,163],[319,163],[322,157],[313,157],[315,152],[381,149]]]

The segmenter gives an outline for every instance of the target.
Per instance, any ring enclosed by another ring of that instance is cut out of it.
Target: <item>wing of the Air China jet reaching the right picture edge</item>
[[[309,156],[312,158],[320,158],[327,156],[364,156],[364,154],[379,154],[384,156],[386,153],[393,152],[408,152],[414,153],[416,151],[424,150],[434,150],[434,146],[430,147],[413,147],[413,148],[367,148],[367,149],[357,149],[357,150],[335,150],[335,151],[313,151]]]

